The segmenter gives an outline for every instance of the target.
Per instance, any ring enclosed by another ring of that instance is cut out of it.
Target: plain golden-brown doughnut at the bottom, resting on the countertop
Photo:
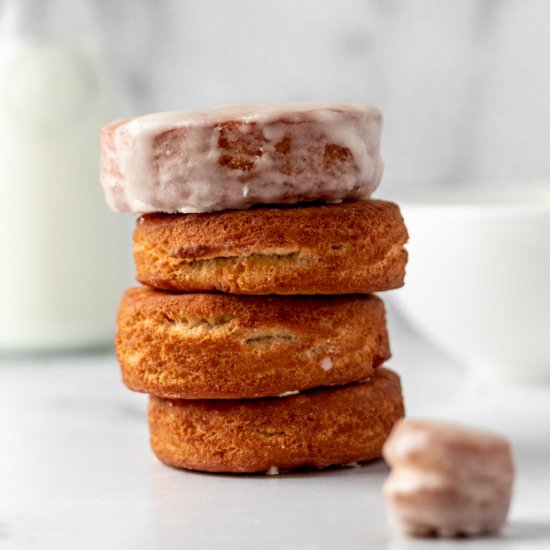
[[[149,402],[151,445],[164,463],[208,472],[325,468],[380,456],[403,416],[399,378],[380,368],[368,382],[288,397]]]

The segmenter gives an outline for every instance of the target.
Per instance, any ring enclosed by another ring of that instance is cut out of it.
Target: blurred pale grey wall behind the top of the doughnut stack
[[[363,101],[378,195],[550,176],[545,0],[96,0],[120,114]]]

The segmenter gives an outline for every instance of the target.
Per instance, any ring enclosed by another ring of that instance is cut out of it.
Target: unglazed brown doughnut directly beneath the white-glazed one
[[[370,293],[402,286],[406,241],[398,206],[380,200],[150,214],[134,259],[138,280],[165,290]]]

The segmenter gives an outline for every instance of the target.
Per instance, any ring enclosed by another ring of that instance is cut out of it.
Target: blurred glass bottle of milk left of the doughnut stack
[[[108,345],[129,269],[99,185],[112,113],[90,6],[3,6],[0,354]]]

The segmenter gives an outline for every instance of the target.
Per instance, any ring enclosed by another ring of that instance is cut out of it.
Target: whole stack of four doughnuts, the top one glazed
[[[166,464],[277,473],[381,456],[403,416],[384,304],[407,231],[381,115],[284,104],[157,113],[101,134],[108,204],[139,214],[118,314],[125,384]]]

